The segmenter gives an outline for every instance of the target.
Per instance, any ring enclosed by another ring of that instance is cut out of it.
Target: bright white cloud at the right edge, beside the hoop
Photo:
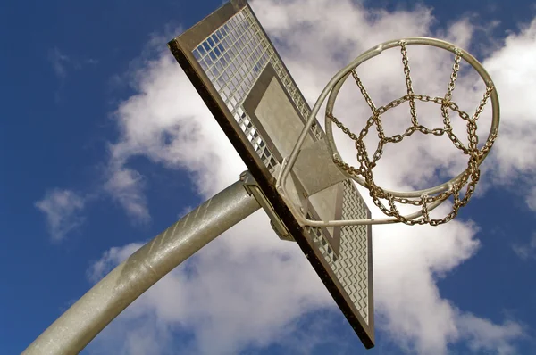
[[[533,176],[536,172],[536,115],[532,110],[532,87],[536,86],[536,20],[520,33],[513,33],[505,45],[484,61],[501,100],[500,139],[493,156],[496,183],[514,185],[520,174]],[[523,189],[534,187],[534,181]],[[520,187],[516,184],[516,189]],[[529,206],[531,201],[527,201]]]

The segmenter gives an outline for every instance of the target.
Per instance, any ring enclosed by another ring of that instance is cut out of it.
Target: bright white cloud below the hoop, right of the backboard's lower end
[[[456,309],[436,284],[478,248],[474,229],[457,221],[440,228],[374,230],[374,286],[384,327],[418,353],[444,353],[459,338]]]

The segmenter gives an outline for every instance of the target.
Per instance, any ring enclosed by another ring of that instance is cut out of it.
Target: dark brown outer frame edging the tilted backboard
[[[301,250],[305,253],[307,260],[309,260],[315,272],[321,278],[322,283],[331,293],[331,296],[339,306],[339,309],[348,319],[350,326],[353,327],[362,343],[364,343],[365,348],[370,349],[374,346],[373,256],[371,226],[366,226],[366,253],[368,262],[367,322],[356,309],[354,301],[350,299],[350,296],[348,295],[344,286],[341,285],[338,277],[328,264],[328,261],[326,261],[325,257],[322,256],[322,251],[319,249],[318,245],[314,244],[314,240],[311,237],[313,229],[304,228],[299,225],[297,219],[289,210],[289,207],[283,201],[281,195],[275,188],[276,180],[273,176],[273,171],[270,171],[270,169],[266,167],[265,162],[261,159],[261,157],[259,157],[258,153],[255,152],[254,147],[251,144],[247,144],[247,136],[239,127],[239,123],[237,120],[235,120],[225,102],[222,100],[222,97],[218,94],[218,91],[214,85],[211,84],[211,79],[207,76],[205,70],[201,67],[200,63],[197,62],[197,59],[193,54],[193,50],[197,47],[197,45],[205,41],[205,39],[212,35],[216,29],[219,29],[223,24],[229,21],[231,17],[235,16],[244,9],[250,12],[251,16],[258,23],[255,13],[251,10],[249,4],[247,4],[247,1],[231,0],[229,3],[223,4],[222,7],[207,16],[205,20],[198,22],[191,29],[188,29],[179,37],[174,38],[168,45],[175,59],[177,62],[179,62],[189,80],[196,88],[197,93],[202,97],[209,111],[211,111],[211,113],[214,115],[214,118],[219,123],[223,132],[229,137],[231,144],[235,147],[239,153],[239,156],[245,162],[247,169],[249,169],[251,175],[255,178],[256,183],[264,193],[266,199],[272,204],[273,211],[277,213],[285,227],[289,230],[289,233],[293,236]],[[260,24],[259,28],[268,41],[268,45],[272,45],[274,48],[274,55],[277,56],[279,62],[281,62],[281,65],[284,67],[284,70],[287,71],[289,79],[292,80],[294,86],[297,88],[294,79],[290,76],[289,70],[285,67],[284,62],[282,61],[281,56],[275,50],[270,38],[264,32],[264,29],[262,26],[260,26]],[[297,94],[301,95],[298,89]],[[305,99],[304,103],[306,103]],[[249,102],[246,101],[245,104],[247,105]],[[295,109],[298,110],[297,107],[295,107]],[[264,139],[266,139],[267,136],[268,135],[264,135]],[[268,142],[268,144],[270,143]],[[271,157],[269,158],[272,159]],[[275,158],[278,160],[278,162],[281,162],[281,156],[276,156]],[[353,185],[348,185],[353,184],[351,182],[347,181],[345,184],[345,186],[348,188],[355,188]],[[368,209],[366,213],[367,218],[370,219],[371,214]],[[314,218],[318,218],[318,216],[314,216]],[[324,230],[324,232],[326,231]]]

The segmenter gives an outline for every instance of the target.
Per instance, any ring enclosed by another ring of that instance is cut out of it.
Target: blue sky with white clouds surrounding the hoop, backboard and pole
[[[80,298],[98,277],[98,260],[116,264],[135,250],[131,244],[147,241],[239,177],[239,158],[165,46],[220,4],[0,4],[0,353],[21,352]],[[432,34],[458,39],[484,62],[498,85],[503,136],[484,164],[481,194],[448,227],[373,228],[377,345],[367,353],[534,353],[534,5],[257,0],[252,6],[310,103],[340,67],[341,58],[322,52],[322,45],[339,45],[345,59],[400,32]],[[300,27],[307,16],[330,11],[363,23],[355,22],[352,31],[333,19],[314,22],[318,28],[308,32]],[[355,47],[348,49],[348,43]],[[195,119],[201,126],[188,126]],[[166,132],[174,144],[160,149],[155,137]],[[186,152],[188,147],[196,150]],[[402,169],[392,183],[407,183],[406,173]],[[186,277],[185,268],[174,271],[86,352],[365,352],[299,259],[297,246],[279,242],[259,213],[251,219],[191,260],[193,277]],[[250,235],[257,224],[265,224],[255,235],[258,242]],[[229,254],[220,255],[222,250]],[[281,260],[270,259],[273,252],[292,255],[294,275]],[[186,302],[193,293],[183,288],[202,292],[208,287],[203,277],[225,277],[216,268],[234,273],[238,291],[216,289],[222,297]],[[284,277],[267,271],[280,268]],[[259,274],[269,281],[266,289],[243,301],[240,290],[251,291],[247,283]],[[288,293],[296,312],[271,316],[270,300],[287,300]],[[268,314],[255,313],[259,320],[249,324],[247,314],[218,313],[204,323],[209,311],[224,309],[232,299],[242,300],[246,310],[260,305]],[[226,334],[222,325],[229,322],[237,331]],[[144,334],[146,342],[132,343],[132,334]]]

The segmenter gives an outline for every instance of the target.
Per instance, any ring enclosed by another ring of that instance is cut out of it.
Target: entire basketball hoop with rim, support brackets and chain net
[[[448,91],[443,97],[431,97],[430,95],[415,94],[412,87],[412,80],[410,77],[410,70],[407,60],[406,47],[408,45],[431,45],[439,47],[455,54],[455,62],[453,65],[453,71],[450,75],[450,81],[448,83]],[[356,68],[363,62],[372,59],[376,55],[381,54],[384,50],[393,47],[400,47],[402,54],[402,63],[404,65],[404,73],[406,78],[406,95],[388,103],[385,106],[376,107],[367,93],[366,89],[361,82],[361,79],[356,73]],[[464,60],[469,63],[474,70],[476,70],[482,78],[486,90],[483,94],[481,102],[478,104],[473,115],[470,116],[465,111],[462,111],[459,106],[454,103],[452,99],[452,93],[455,89],[456,78],[460,68],[460,62]],[[333,107],[339,95],[339,90],[346,82],[347,78],[352,76],[356,85],[364,96],[366,103],[368,104],[372,115],[366,121],[365,127],[358,133],[351,132],[345,127],[338,119],[333,115]],[[340,171],[347,177],[356,181],[357,184],[364,186],[370,192],[374,204],[387,216],[385,219],[341,219],[331,221],[320,221],[306,219],[302,213],[295,210],[293,213],[296,215],[297,220],[303,226],[312,227],[330,227],[330,226],[348,226],[348,225],[362,225],[362,224],[384,224],[384,223],[396,223],[402,222],[407,225],[423,225],[430,224],[437,226],[454,219],[461,207],[464,207],[471,198],[475,186],[480,179],[480,165],[490,153],[491,146],[498,136],[498,123],[499,123],[499,106],[498,95],[495,86],[490,78],[488,72],[482,67],[482,64],[478,62],[473,55],[465,52],[465,50],[449,44],[448,42],[440,39],[428,38],[428,37],[409,37],[400,40],[393,40],[381,45],[378,45],[364,54],[358,56],[353,62],[350,62],[348,66],[340,70],[328,85],[323,89],[322,94],[314,104],[313,111],[307,119],[306,126],[302,130],[301,135],[297,140],[292,153],[287,159],[283,161],[280,175],[277,181],[277,188],[281,197],[288,200],[288,193],[286,191],[286,179],[289,176],[289,172],[293,168],[297,161],[297,155],[304,144],[306,134],[311,129],[315,120],[316,114],[320,110],[320,107],[325,102],[326,98],[326,111],[325,111],[325,130],[326,130],[326,144],[328,150],[331,153],[333,162],[339,167]],[[415,101],[421,101],[425,103],[436,103],[440,106],[441,116],[443,118],[443,128],[426,128],[419,123],[415,110]],[[490,132],[485,144],[479,149],[479,138],[477,135],[477,120],[479,119],[483,108],[486,103],[491,102],[492,109],[492,121]],[[392,108],[397,107],[402,103],[409,103],[411,114],[411,126],[406,129],[402,135],[386,136],[381,123],[381,115]],[[456,112],[457,116],[465,121],[467,127],[468,144],[463,144],[458,137],[454,134],[449,111]],[[343,161],[341,155],[335,144],[333,138],[333,125],[340,128],[350,139],[355,143],[356,158],[358,167],[348,164]],[[380,144],[373,153],[373,159],[369,159],[369,155],[364,144],[364,137],[369,133],[369,128],[375,127],[380,138]],[[433,136],[447,135],[450,141],[456,146],[458,150],[464,153],[468,157],[467,168],[458,176],[450,179],[448,182],[431,188],[401,192],[393,191],[377,186],[374,182],[373,168],[376,166],[377,161],[381,158],[382,149],[385,144],[401,142],[407,136],[412,136],[415,132],[422,134],[431,134]],[[461,197],[461,193],[465,189],[465,194]],[[430,211],[438,207],[442,202],[447,201],[450,197],[453,198],[452,210],[442,219],[431,219]],[[382,201],[383,200],[383,201]],[[397,203],[407,204],[420,207],[421,211],[415,213],[402,215],[398,211]],[[291,203],[289,203],[290,205]]]

